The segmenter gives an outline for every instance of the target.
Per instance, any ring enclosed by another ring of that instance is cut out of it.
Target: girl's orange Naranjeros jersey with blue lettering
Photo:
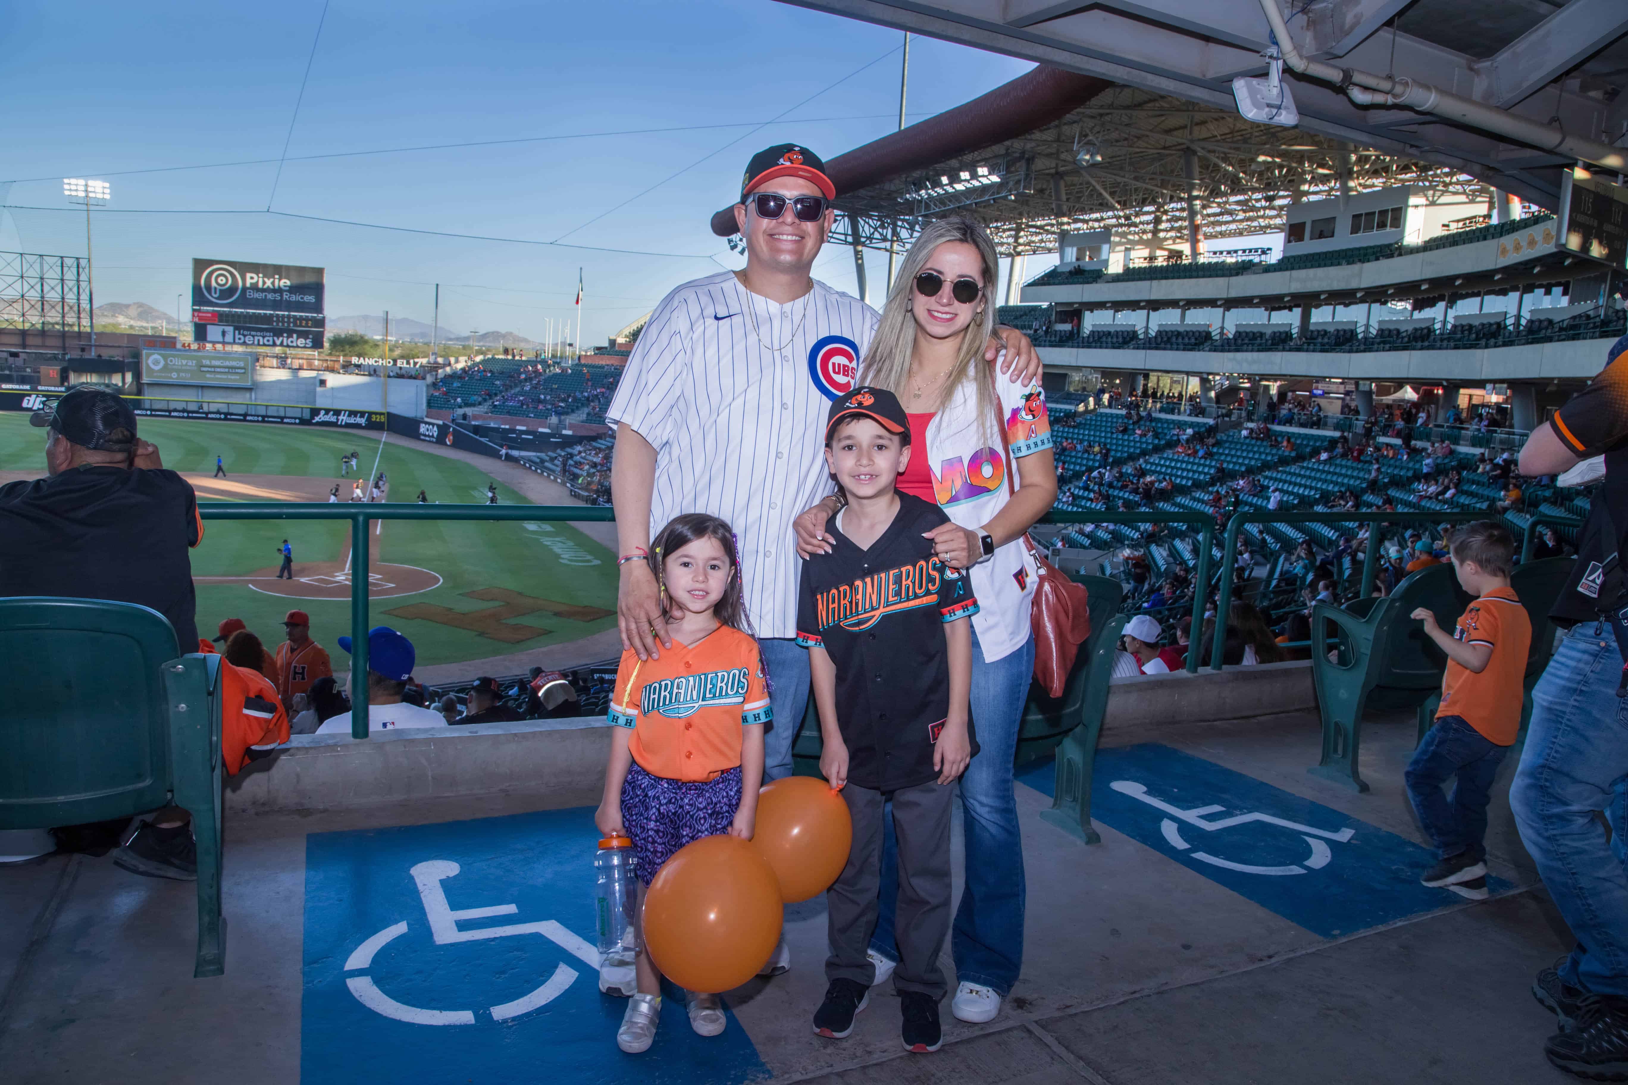
[[[741,763],[741,727],[770,721],[757,641],[720,626],[661,659],[622,652],[610,722],[632,727],[633,760],[651,776],[700,782]]]

